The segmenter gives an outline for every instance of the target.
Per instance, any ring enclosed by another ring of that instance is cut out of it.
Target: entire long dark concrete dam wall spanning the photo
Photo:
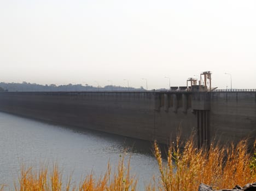
[[[256,138],[256,91],[1,92],[0,111],[168,144]]]

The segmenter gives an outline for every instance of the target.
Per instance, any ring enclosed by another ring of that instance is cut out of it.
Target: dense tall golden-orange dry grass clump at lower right
[[[243,186],[256,181],[256,169],[250,168],[252,155],[247,152],[245,140],[236,146],[220,147],[212,143],[208,149],[198,149],[193,136],[184,144],[177,137],[176,144],[168,148],[167,162],[164,164],[156,142],[154,151],[161,175],[159,190],[197,190],[200,183],[214,189],[231,189],[236,184]]]

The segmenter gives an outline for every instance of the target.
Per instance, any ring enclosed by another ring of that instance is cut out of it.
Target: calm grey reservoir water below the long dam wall
[[[104,174],[108,162],[114,169],[120,156],[130,159],[138,190],[158,175],[152,142],[92,130],[48,124],[0,112],[0,184],[13,188],[22,164],[38,168],[57,163],[63,175],[79,183],[93,172]]]

